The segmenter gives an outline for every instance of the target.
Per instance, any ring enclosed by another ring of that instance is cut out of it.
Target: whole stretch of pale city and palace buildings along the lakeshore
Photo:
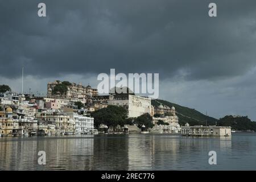
[[[69,135],[97,134],[94,129],[94,118],[90,113],[108,105],[125,107],[129,117],[138,117],[149,113],[155,125],[151,133],[191,134],[194,129],[180,127],[175,107],[162,104],[154,107],[151,98],[136,96],[134,93],[110,93],[99,96],[97,89],[90,85],[69,83],[67,92],[53,93],[61,81],[48,82],[47,96],[34,97],[30,94],[4,93],[0,95],[0,135]],[[79,108],[76,102],[84,107]],[[157,115],[157,117],[156,117]],[[162,124],[159,124],[159,121]],[[102,127],[102,131],[107,126]],[[139,130],[136,126],[125,126],[126,132]],[[211,132],[210,130],[209,132]],[[147,132],[147,131],[143,131]],[[229,132],[229,131],[227,131]],[[215,131],[213,133],[216,133]]]

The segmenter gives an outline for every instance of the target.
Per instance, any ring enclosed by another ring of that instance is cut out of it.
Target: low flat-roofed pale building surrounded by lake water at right
[[[226,126],[189,126],[188,123],[185,126],[181,126],[181,135],[197,136],[197,137],[230,137],[231,127]]]

